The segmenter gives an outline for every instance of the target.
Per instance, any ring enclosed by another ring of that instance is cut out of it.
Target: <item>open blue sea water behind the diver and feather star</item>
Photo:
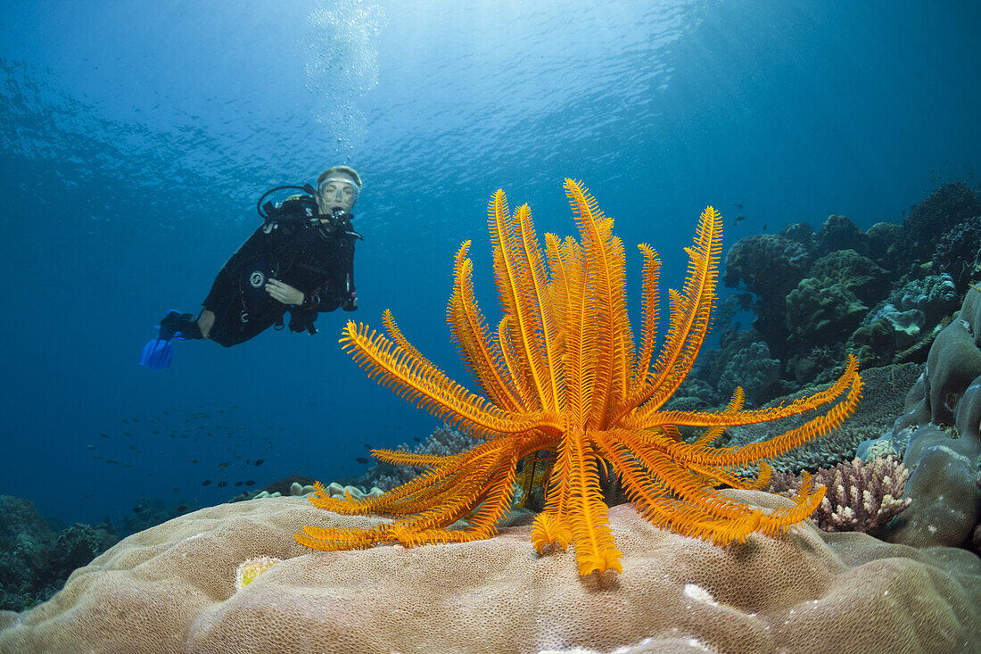
[[[498,188],[540,234],[569,234],[561,181],[583,180],[630,245],[635,306],[632,245],[657,247],[679,285],[706,204],[746,216],[727,245],[829,214],[900,222],[941,182],[977,183],[979,7],[5,3],[0,493],[117,520],[139,497],[354,475],[365,443],[425,438],[437,421],[336,338],[389,307],[466,381],[443,320],[451,262],[473,239],[492,316]],[[316,337],[183,343],[170,370],[138,367],[154,321],[196,310],[255,228],[258,196],[337,163],[365,181],[359,310],[322,314]]]

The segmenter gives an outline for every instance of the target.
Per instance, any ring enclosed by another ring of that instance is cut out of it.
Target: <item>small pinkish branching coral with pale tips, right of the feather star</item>
[[[889,520],[912,502],[903,497],[908,477],[909,470],[892,456],[818,468],[811,481],[828,491],[811,519],[825,531],[861,531],[878,536]],[[793,497],[801,483],[796,474],[774,472],[769,490]]]

